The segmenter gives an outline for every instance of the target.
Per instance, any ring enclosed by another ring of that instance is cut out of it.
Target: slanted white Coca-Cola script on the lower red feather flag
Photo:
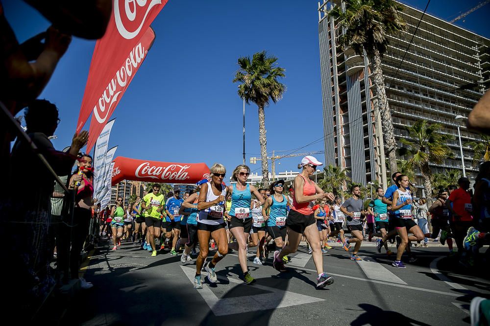
[[[98,123],[103,124],[107,120],[112,105],[117,102],[118,96],[123,92],[122,88],[128,84],[131,75],[136,73],[138,65],[143,61],[147,52],[141,43],[138,43],[131,50],[126,61],[111,79],[109,85],[104,89],[97,104],[94,106],[94,116]]]

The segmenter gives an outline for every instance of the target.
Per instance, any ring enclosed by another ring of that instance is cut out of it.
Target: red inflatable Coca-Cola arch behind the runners
[[[209,177],[204,163],[174,163],[137,160],[118,156],[112,169],[112,185],[122,180],[158,183],[196,183]]]

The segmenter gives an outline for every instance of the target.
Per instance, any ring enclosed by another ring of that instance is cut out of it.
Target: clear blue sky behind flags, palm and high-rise
[[[427,3],[403,2],[421,10]],[[478,2],[433,0],[427,12],[450,20]],[[49,27],[24,2],[2,3],[20,42]],[[288,88],[280,102],[266,108],[268,151],[322,150],[317,6],[313,0],[169,0],[152,23],[155,43],[112,115],[117,119],[110,147],[119,145],[116,156],[208,166],[220,162],[231,172],[242,163],[243,139],[243,102],[231,81],[238,57],[262,50],[278,57]],[[457,23],[490,38],[489,13],[486,5]],[[57,149],[70,145],[73,137],[94,45],[73,38],[40,96],[60,110],[58,139],[53,140]],[[245,109],[248,164],[250,156],[260,157],[260,146],[257,107]],[[317,157],[323,160],[323,154]],[[276,171],[294,171],[300,160],[282,159]],[[260,174],[260,164],[250,168]]]

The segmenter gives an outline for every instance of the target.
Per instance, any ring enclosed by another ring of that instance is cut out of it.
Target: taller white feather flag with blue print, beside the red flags
[[[98,198],[105,184],[105,171],[107,148],[109,147],[109,136],[111,135],[112,126],[116,119],[110,120],[97,138],[94,151],[94,197]],[[112,158],[111,158],[112,161]]]

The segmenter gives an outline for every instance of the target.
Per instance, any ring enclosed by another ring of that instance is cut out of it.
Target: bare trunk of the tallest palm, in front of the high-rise
[[[385,91],[385,78],[381,70],[381,56],[379,50],[374,49],[374,54],[371,58],[372,75],[374,78],[374,86],[376,95],[378,96],[378,106],[381,114],[381,126],[383,127],[383,139],[385,143],[385,152],[388,153],[388,161],[390,162],[390,174],[395,173],[396,167],[396,140],[393,129],[392,113],[388,105]]]

